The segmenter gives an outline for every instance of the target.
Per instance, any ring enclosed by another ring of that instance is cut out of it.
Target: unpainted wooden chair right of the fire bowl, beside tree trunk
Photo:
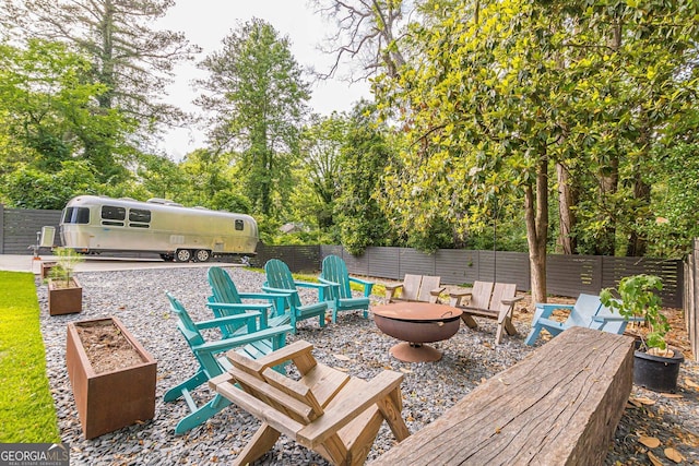
[[[476,328],[474,315],[498,321],[495,344],[502,342],[502,331],[508,335],[517,335],[512,323],[514,303],[524,297],[517,298],[517,285],[510,283],[474,282],[473,288],[450,292],[450,304],[461,309],[461,320],[470,327]],[[467,298],[467,301],[464,300]]]

